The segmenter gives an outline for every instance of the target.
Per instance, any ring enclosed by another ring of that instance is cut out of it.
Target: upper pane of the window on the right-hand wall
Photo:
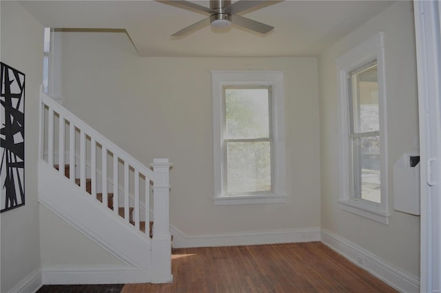
[[[377,65],[351,72],[353,132],[380,130]]]

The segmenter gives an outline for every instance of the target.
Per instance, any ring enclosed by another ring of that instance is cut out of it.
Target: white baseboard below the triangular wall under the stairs
[[[42,268],[45,285],[150,283],[150,273],[124,266]]]

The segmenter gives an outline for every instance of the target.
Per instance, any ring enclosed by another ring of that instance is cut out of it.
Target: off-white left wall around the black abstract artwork
[[[25,206],[1,213],[1,287],[41,284],[37,162],[43,26],[15,1],[1,1],[1,62],[25,74]]]

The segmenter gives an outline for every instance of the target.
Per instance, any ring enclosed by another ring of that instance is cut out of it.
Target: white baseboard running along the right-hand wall
[[[375,254],[327,230],[322,230],[321,239],[326,246],[400,292],[420,292],[418,277],[394,267]]]

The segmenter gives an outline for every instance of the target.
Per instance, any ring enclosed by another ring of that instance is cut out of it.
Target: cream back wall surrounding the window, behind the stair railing
[[[63,105],[144,164],[170,158],[171,224],[187,236],[318,228],[316,58],[139,58],[122,33],[65,32]],[[210,70],[285,72],[286,204],[214,206]]]

